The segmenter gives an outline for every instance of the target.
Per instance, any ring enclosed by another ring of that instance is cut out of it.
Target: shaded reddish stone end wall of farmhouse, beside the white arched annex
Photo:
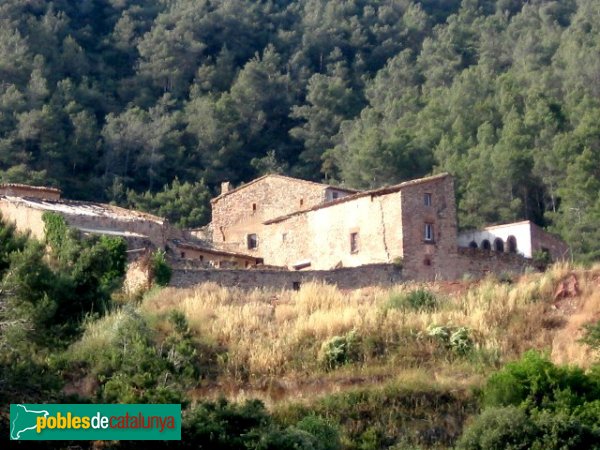
[[[425,194],[430,195],[426,204]],[[433,240],[425,239],[425,224]],[[453,278],[457,255],[456,203],[452,177],[415,183],[402,189],[403,266],[415,280]]]

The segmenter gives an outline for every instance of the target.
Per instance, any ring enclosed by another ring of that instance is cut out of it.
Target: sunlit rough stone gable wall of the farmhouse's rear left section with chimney
[[[258,234],[262,223],[325,201],[325,186],[302,180],[269,176],[212,203],[215,245],[262,256],[260,247],[248,249],[248,234]],[[255,208],[254,208],[255,206]]]

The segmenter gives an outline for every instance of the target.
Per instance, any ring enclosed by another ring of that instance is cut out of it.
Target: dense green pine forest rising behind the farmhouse
[[[595,260],[599,15],[593,0],[6,0],[0,179],[196,226],[224,180],[449,171],[461,227],[530,219]]]

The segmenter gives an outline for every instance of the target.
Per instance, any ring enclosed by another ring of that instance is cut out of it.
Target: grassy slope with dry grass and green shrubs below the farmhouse
[[[600,319],[599,286],[600,266],[557,265],[391,290],[162,289],[91,322],[58,366],[64,393],[97,401],[260,399],[284,430],[325,418],[342,448],[449,448],[488,377],[526,351],[592,366],[578,340]]]

